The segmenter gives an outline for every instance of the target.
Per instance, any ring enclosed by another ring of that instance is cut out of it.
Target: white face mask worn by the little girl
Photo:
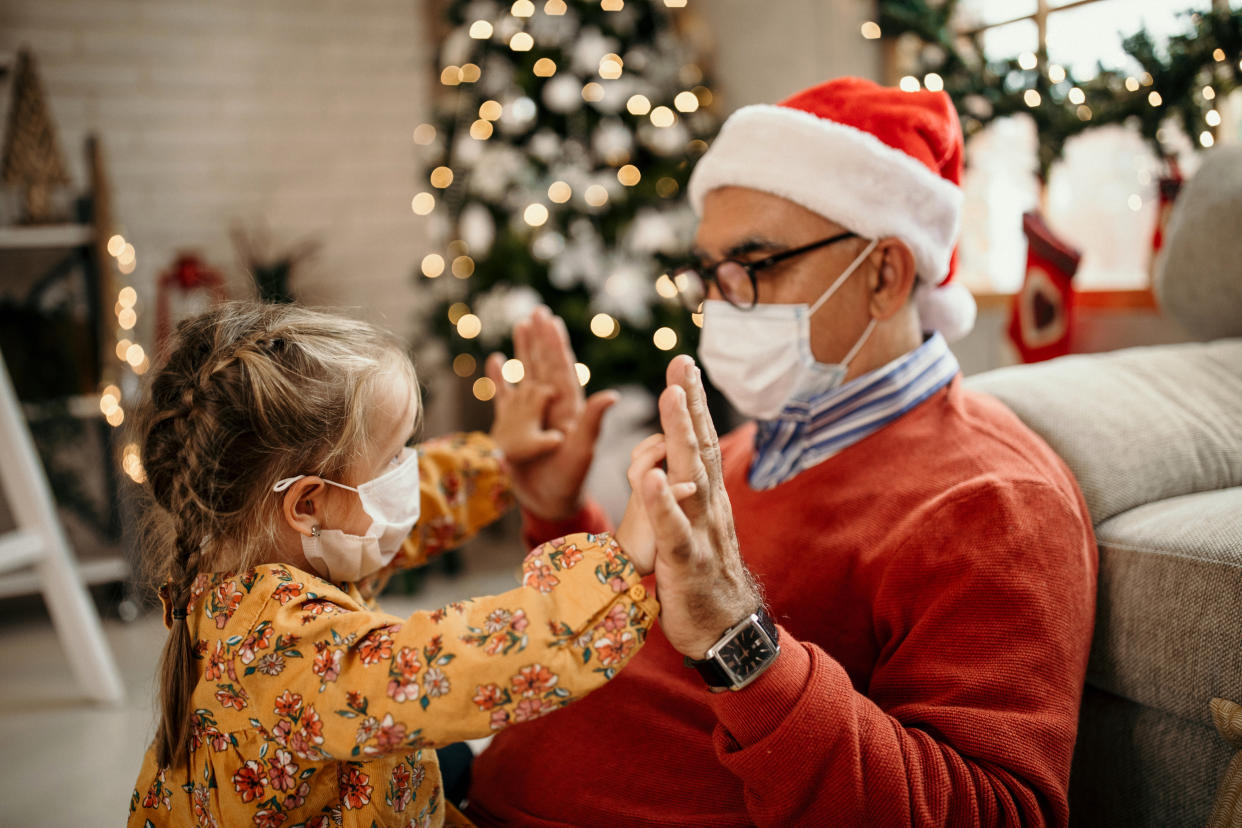
[[[272,490],[284,492],[304,477],[287,477]],[[302,536],[302,552],[307,562],[329,581],[360,581],[396,557],[401,542],[419,523],[419,453],[405,448],[392,468],[356,489],[332,480],[324,483],[356,492],[371,525],[365,535],[315,528],[309,538]]]

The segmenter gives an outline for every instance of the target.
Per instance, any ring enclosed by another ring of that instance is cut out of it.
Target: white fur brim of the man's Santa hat
[[[932,284],[949,273],[961,190],[861,129],[790,107],[743,107],[691,175],[696,212],[723,186],[787,199],[867,238],[895,236]]]

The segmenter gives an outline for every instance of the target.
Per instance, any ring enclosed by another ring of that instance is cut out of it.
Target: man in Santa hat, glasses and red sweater
[[[1066,824],[1095,547],[1069,472],[945,345],[974,313],[946,284],[960,169],[941,93],[845,78],[725,123],[677,282],[705,299],[703,367],[756,422],[718,444],[698,369],[672,362],[667,477],[638,482],[661,629],[497,735],[479,824]],[[523,335],[568,374],[549,318]],[[554,493],[524,502],[534,539],[602,528],[573,417],[606,398],[574,413],[563,386],[563,451],[515,469]],[[699,490],[676,504],[668,479]]]

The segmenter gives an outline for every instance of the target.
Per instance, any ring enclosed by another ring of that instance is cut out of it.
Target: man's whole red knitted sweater
[[[960,377],[773,489],[746,484],[753,436],[724,438],[724,475],[777,662],[712,694],[653,629],[615,680],[497,735],[471,818],[1064,826],[1095,544],[1061,459]]]

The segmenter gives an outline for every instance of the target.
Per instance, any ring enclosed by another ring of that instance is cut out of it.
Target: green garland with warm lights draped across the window
[[[990,61],[984,56],[981,35],[954,34],[956,6],[956,0],[881,0],[879,26],[886,37],[913,35],[933,46],[922,50],[919,76],[934,72],[944,79],[968,139],[996,118],[1030,115],[1038,134],[1040,174],[1045,179],[1066,142],[1097,127],[1134,124],[1161,158],[1172,155],[1161,130],[1169,118],[1175,118],[1196,144],[1205,132],[1215,140],[1216,128],[1205,120],[1215,99],[1206,99],[1202,89],[1211,86],[1222,97],[1242,86],[1242,11],[1186,11],[1194,30],[1170,37],[1163,50],[1145,31],[1126,37],[1123,47],[1148,76],[1130,89],[1125,72],[1103,66],[1090,81],[1078,82],[1067,70],[1066,78],[1053,83],[1042,57],[1030,70],[1022,68],[1016,57]],[[959,46],[963,40],[965,48]],[[1069,97],[1076,88],[1084,97],[1081,104]],[[1040,94],[1037,106],[1027,103],[1030,89]],[[1156,106],[1151,93],[1159,94]]]

